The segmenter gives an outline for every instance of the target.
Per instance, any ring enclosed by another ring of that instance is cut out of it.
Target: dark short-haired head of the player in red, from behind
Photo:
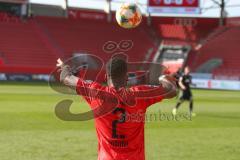
[[[127,74],[127,62],[123,58],[113,57],[107,63],[107,75],[112,79],[121,79]]]

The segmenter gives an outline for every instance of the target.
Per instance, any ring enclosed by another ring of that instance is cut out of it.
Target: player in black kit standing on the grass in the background
[[[193,113],[193,96],[190,85],[192,84],[192,76],[190,75],[190,68],[187,66],[184,68],[183,75],[179,78],[178,85],[181,88],[181,96],[177,102],[177,105],[173,109],[173,115],[177,114],[177,110],[184,101],[189,101],[190,116],[195,116]]]

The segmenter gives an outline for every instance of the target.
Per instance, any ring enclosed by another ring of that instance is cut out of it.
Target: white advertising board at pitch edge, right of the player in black
[[[193,79],[192,82],[195,84],[193,88],[240,90],[240,81]]]

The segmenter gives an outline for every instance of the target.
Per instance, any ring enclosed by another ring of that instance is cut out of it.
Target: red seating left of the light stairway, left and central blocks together
[[[25,21],[14,17],[17,20],[12,21],[6,13],[1,16],[0,50],[7,62],[5,69],[1,67],[2,72],[12,72],[13,69],[6,68],[14,66],[18,66],[19,71],[14,70],[19,73],[32,73],[34,68],[39,68],[41,73],[50,72],[57,57],[69,58],[73,53],[82,52],[97,55],[106,61],[113,53],[105,53],[103,45],[110,40],[117,43],[121,40],[133,41],[132,49],[126,51],[130,55],[129,61],[143,61],[156,50],[154,40],[144,27],[132,30],[130,34],[129,30],[106,21],[56,17],[33,17]],[[31,71],[20,71],[21,67],[24,70],[29,67]]]

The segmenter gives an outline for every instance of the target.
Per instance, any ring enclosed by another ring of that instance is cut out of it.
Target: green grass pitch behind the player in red
[[[148,160],[239,160],[240,92],[194,90],[197,116],[189,120],[146,123]],[[94,122],[56,118],[60,100],[73,99],[72,112],[88,110],[79,97],[47,85],[0,85],[0,160],[96,160]],[[149,108],[169,114],[176,99]],[[185,103],[181,113],[187,113]]]

